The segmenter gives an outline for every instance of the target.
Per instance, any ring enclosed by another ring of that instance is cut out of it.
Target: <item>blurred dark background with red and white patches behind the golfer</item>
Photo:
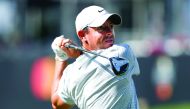
[[[190,0],[0,0],[1,108],[51,109],[51,43],[64,34],[80,45],[75,17],[89,5],[123,18],[116,43],[138,58],[140,107],[190,109]]]

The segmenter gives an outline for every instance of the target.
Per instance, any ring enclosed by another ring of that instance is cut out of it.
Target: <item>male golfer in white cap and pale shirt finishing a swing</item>
[[[118,14],[100,6],[84,8],[75,20],[82,48],[127,60],[128,67],[122,75],[115,75],[108,59],[65,47],[73,42],[63,36],[54,39],[53,109],[70,109],[74,105],[80,109],[139,109],[132,78],[140,74],[137,59],[129,45],[114,44],[114,26],[120,23]],[[69,58],[76,60],[68,64]]]

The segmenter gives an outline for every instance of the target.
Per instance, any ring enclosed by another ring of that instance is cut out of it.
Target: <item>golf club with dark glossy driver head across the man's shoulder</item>
[[[129,62],[126,59],[123,59],[123,58],[120,58],[120,57],[108,58],[106,56],[100,55],[100,54],[92,52],[92,51],[85,50],[82,47],[77,47],[77,46],[69,44],[69,43],[66,43],[65,47],[80,50],[82,52],[88,52],[90,54],[93,54],[93,55],[100,56],[102,58],[108,59],[110,61],[110,63],[111,63],[111,67],[112,67],[112,70],[115,73],[115,75],[124,74],[127,71],[127,68],[129,66]]]

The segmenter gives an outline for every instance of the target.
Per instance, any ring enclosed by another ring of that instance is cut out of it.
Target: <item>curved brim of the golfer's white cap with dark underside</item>
[[[94,20],[88,26],[99,27],[105,23],[106,20],[110,20],[114,25],[119,25],[121,23],[121,17],[118,14],[105,14]]]

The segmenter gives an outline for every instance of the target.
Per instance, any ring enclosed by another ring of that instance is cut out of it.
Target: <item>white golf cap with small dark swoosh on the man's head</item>
[[[89,6],[84,8],[76,17],[76,31],[83,30],[85,27],[99,27],[110,19],[114,25],[121,23],[121,17],[116,13],[109,13],[99,6]]]

